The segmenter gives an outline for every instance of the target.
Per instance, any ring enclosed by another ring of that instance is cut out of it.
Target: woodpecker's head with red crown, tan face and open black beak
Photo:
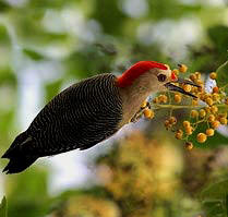
[[[172,83],[199,86],[193,82],[178,77],[167,65],[155,61],[140,61],[133,64],[117,81],[118,86],[123,88],[139,84],[137,86],[145,87],[149,92],[160,92],[168,88],[195,97]]]

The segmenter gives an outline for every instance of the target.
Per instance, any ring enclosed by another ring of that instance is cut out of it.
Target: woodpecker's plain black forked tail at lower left
[[[38,157],[29,155],[29,147],[33,146],[32,137],[27,136],[26,132],[21,133],[13,141],[10,148],[4,153],[2,158],[9,158],[10,161],[3,169],[7,173],[17,173],[25,170],[33,162],[36,161]]]

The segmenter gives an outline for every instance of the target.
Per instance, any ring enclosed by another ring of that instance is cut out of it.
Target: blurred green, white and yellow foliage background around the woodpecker
[[[48,100],[84,77],[154,60],[185,63],[206,79],[228,59],[227,5],[0,0],[0,155]],[[165,132],[167,114],[130,124],[89,150],[38,160],[21,174],[0,173],[9,217],[227,216],[227,129],[188,152]]]

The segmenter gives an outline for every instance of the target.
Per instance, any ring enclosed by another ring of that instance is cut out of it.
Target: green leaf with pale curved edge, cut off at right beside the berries
[[[228,94],[228,61],[217,69],[217,85]]]

